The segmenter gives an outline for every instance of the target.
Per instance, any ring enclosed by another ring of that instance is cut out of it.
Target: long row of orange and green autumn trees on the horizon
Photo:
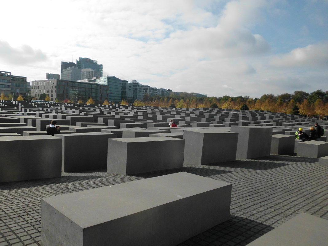
[[[311,93],[295,91],[292,94],[264,94],[261,97],[222,96],[195,97],[194,93],[183,92],[177,95],[172,92],[169,96],[144,95],[142,101],[135,100],[135,106],[158,106],[175,108],[227,108],[267,110],[271,112],[294,113],[306,116],[328,115],[328,91],[317,90]]]

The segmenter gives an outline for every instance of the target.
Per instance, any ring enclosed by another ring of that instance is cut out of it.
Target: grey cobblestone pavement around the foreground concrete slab
[[[179,171],[233,184],[230,219],[180,246],[247,245],[301,212],[328,219],[328,167],[317,158],[271,155],[135,176],[101,170],[1,183],[0,246],[39,245],[44,197]]]

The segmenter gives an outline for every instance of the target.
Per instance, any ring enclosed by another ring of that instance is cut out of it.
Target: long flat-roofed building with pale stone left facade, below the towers
[[[69,99],[73,102],[83,100],[86,102],[90,97],[96,103],[102,103],[109,97],[109,86],[97,83],[84,83],[63,79],[34,80],[31,84],[31,96],[39,98],[46,93],[51,101],[63,101]]]

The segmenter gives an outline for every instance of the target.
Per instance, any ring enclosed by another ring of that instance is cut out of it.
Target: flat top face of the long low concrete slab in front
[[[180,172],[43,200],[80,227],[87,228],[230,185]]]

